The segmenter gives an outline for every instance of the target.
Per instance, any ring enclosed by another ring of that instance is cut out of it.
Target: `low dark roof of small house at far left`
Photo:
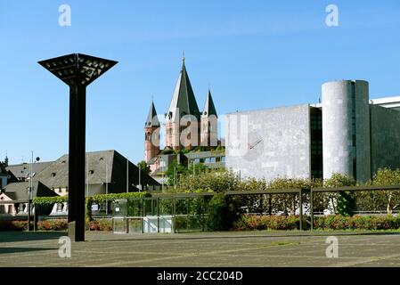
[[[27,200],[29,199],[29,186],[30,182],[17,182],[10,183],[5,186],[4,194],[11,199],[15,200]],[[40,181],[33,181],[33,193],[32,197],[52,197],[58,196],[54,191],[51,191],[44,183]]]

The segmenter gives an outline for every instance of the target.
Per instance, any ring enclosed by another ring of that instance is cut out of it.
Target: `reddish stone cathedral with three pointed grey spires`
[[[216,148],[219,143],[216,107],[211,92],[208,88],[206,102],[200,112],[184,58],[163,125],[165,148],[161,151],[159,146],[161,125],[154,102],[151,102],[144,126],[144,159],[150,166],[157,163],[157,157],[163,152],[209,151]]]

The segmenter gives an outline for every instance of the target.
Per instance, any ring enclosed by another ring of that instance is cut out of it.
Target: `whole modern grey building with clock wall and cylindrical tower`
[[[400,97],[369,100],[363,80],[322,85],[322,103],[235,112],[226,119],[226,167],[267,180],[367,181],[400,167]]]

